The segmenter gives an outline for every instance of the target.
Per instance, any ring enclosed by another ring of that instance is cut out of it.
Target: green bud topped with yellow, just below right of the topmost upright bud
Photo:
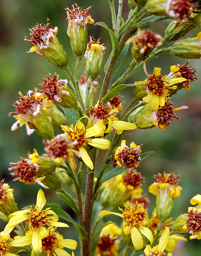
[[[87,44],[86,52],[84,57],[85,61],[85,74],[93,81],[98,75],[100,68],[103,62],[103,56],[105,53],[106,47],[100,45],[99,41],[93,41],[93,38],[90,37],[90,41]]]

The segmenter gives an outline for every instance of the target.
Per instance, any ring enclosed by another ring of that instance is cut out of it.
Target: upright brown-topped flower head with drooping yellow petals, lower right
[[[174,198],[180,196],[182,188],[178,186],[179,175],[175,173],[158,173],[154,175],[156,182],[149,186],[149,192],[156,196],[156,215],[159,220],[165,221],[170,217]]]

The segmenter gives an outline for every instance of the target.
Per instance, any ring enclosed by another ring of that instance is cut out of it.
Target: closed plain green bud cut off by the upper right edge
[[[197,37],[175,42],[170,47],[170,53],[181,58],[199,59],[201,56],[201,32]]]

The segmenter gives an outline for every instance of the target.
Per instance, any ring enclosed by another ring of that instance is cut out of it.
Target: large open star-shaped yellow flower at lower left
[[[45,225],[54,225],[60,227],[69,227],[67,224],[58,222],[57,214],[46,208],[42,210],[46,203],[44,192],[40,189],[37,195],[36,206],[34,210],[25,209],[10,214],[8,224],[5,226],[4,234],[9,234],[12,229],[19,223],[26,220],[28,227],[33,231],[32,246],[34,251],[39,252],[42,248],[42,239],[48,236]],[[16,240],[15,240],[16,241]],[[17,245],[15,245],[17,246]],[[19,246],[19,245],[18,245]]]

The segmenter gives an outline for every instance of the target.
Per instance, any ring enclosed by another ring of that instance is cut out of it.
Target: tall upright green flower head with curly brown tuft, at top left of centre
[[[72,6],[70,10],[66,8],[68,16],[68,29],[67,34],[70,37],[70,44],[74,54],[74,57],[83,57],[87,46],[87,31],[88,23],[93,24],[94,20],[91,18],[88,11],[91,9],[89,6],[87,9],[82,10],[77,4]]]

